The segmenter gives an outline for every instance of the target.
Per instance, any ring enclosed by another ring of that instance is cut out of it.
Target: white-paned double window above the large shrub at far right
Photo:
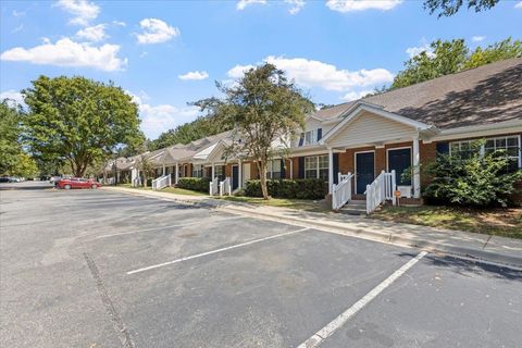
[[[473,148],[473,142],[476,140],[452,141],[449,146],[450,156],[460,156],[461,158],[470,158],[473,151],[480,151],[481,154],[492,153],[495,151],[505,151],[506,156],[511,160],[509,171],[514,172],[522,167],[520,160],[520,137],[505,136],[496,138],[487,138],[478,149]]]

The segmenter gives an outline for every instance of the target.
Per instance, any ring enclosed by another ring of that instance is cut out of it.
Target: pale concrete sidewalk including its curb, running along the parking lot
[[[522,268],[522,240],[518,239],[391,223],[364,216],[247,204],[207,196],[183,196],[124,187],[104,187],[103,189],[198,204],[256,219]]]

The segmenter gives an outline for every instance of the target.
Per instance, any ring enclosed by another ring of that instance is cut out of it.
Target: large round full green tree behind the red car
[[[40,76],[22,94],[30,151],[44,162],[66,161],[75,176],[122,145],[142,139],[136,103],[113,83]]]

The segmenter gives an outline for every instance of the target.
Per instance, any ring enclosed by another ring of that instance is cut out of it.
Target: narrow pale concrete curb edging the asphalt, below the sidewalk
[[[409,247],[409,248],[420,248],[431,252],[439,252],[455,257],[463,257],[468,259],[472,259],[476,262],[489,262],[489,263],[497,263],[506,266],[518,268],[522,269],[522,254],[521,257],[501,254],[497,252],[486,251],[483,249],[476,248],[467,248],[467,247],[459,247],[452,246],[445,243],[433,241],[430,239],[423,238],[410,238],[394,235],[393,233],[383,233],[374,229],[369,228],[359,228],[359,227],[349,227],[349,226],[336,226],[323,222],[316,222],[313,220],[304,220],[304,219],[297,219],[291,216],[279,216],[275,214],[270,214],[260,211],[251,211],[248,208],[251,208],[249,204],[238,204],[234,203],[231,204],[225,201],[216,201],[212,200],[211,198],[204,199],[202,201],[196,201],[194,199],[181,199],[178,197],[163,197],[158,195],[150,195],[147,191],[129,191],[127,189],[117,189],[117,188],[107,188],[111,191],[120,191],[126,192],[136,196],[146,196],[151,198],[164,199],[176,201],[185,204],[191,204],[201,208],[210,208],[210,209],[217,209],[225,212],[231,212],[235,214],[247,215],[256,219],[275,221],[281,223],[291,223],[293,225],[300,226],[300,227],[312,227],[315,229],[335,233],[338,235],[361,238],[366,240],[373,240],[377,243],[390,244],[400,247]],[[239,207],[244,207],[243,209]]]

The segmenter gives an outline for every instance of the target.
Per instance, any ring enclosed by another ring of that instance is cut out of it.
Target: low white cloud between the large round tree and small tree
[[[171,104],[151,105],[144,102],[148,96],[141,92],[141,97],[127,91],[133,100],[138,104],[139,116],[141,119],[141,130],[149,139],[156,139],[158,136],[178,125],[196,120],[199,114],[198,107],[177,108]]]

